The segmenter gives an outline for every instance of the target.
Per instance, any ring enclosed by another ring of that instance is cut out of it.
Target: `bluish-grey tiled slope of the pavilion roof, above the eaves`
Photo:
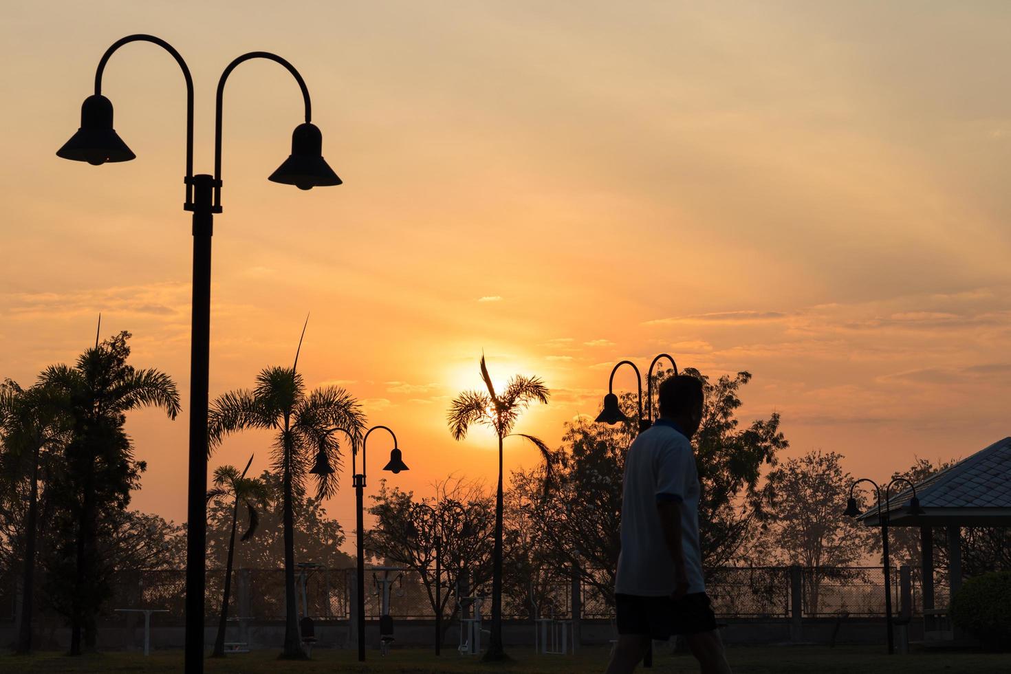
[[[885,504],[888,510],[905,508],[913,496],[907,489]],[[1011,438],[998,441],[916,485],[920,507],[1011,509]],[[860,515],[877,516],[877,506]]]

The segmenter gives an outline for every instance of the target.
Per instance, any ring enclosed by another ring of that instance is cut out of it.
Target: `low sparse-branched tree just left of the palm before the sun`
[[[383,560],[402,564],[418,573],[436,613],[446,614],[455,598],[450,619],[457,614],[461,587],[477,587],[491,577],[494,510],[480,485],[447,479],[436,485],[436,498],[415,500],[411,491],[389,489],[381,481],[371,496],[369,512],[376,525],[365,534],[366,550]],[[425,503],[437,513],[418,507]],[[435,594],[435,537],[441,536],[442,567],[446,591]]]

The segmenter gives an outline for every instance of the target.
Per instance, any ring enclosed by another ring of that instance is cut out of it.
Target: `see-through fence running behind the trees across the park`
[[[913,615],[922,615],[923,592],[919,569],[912,569]],[[435,588],[426,584],[413,571],[382,572],[366,569],[365,613],[377,618],[382,612],[383,583],[391,579],[388,589],[389,613],[394,619],[432,619],[435,615]],[[527,587],[507,583],[502,596],[502,616],[505,619],[539,617],[572,617],[573,598],[578,599],[579,617],[610,619],[614,617],[614,597],[611,576],[604,571],[583,571],[594,582],[581,580],[577,596],[567,570],[541,572]],[[707,574],[707,592],[713,608],[721,618],[784,618],[791,614],[792,569],[790,567],[723,567]],[[938,574],[939,575],[939,574]],[[355,569],[308,569],[295,573],[295,596],[299,616],[315,619],[347,620],[352,615]],[[17,577],[4,574],[0,587],[0,620],[14,619],[17,597]],[[844,567],[800,569],[802,610],[807,617],[848,615],[853,617],[885,614],[885,578],[882,567]],[[940,578],[938,578],[940,580]],[[209,570],[206,576],[205,614],[220,614],[224,572]],[[125,619],[116,608],[164,608],[162,618],[181,623],[184,618],[186,572],[129,571],[113,578],[112,596],[103,603],[106,619]],[[892,571],[891,592],[893,611],[901,605],[900,572]],[[42,579],[39,579],[39,589]],[[457,612],[460,592],[457,587],[442,588],[449,596],[444,614]],[[232,579],[228,615],[256,620],[282,620],[285,613],[284,571],[282,569],[237,569]],[[491,583],[486,582],[467,591],[479,600],[483,615],[491,613]],[[934,585],[934,605],[947,604],[947,588]],[[59,616],[49,607],[44,597],[38,602],[40,617]]]

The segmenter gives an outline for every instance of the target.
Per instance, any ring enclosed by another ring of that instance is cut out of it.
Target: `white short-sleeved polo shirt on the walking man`
[[[657,419],[625,457],[622,550],[615,592],[664,596],[674,591],[674,560],[660,527],[656,504],[680,503],[681,549],[690,593],[705,592],[699,546],[699,473],[692,443],[677,425]]]

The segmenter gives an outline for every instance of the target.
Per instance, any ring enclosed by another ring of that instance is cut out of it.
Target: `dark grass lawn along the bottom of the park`
[[[440,672],[516,672],[529,674],[561,674],[603,672],[607,665],[606,649],[583,649],[576,656],[537,656],[529,650],[513,650],[515,661],[510,664],[482,665],[458,656],[454,651],[436,658],[431,651],[399,650],[385,658],[370,651],[368,662],[358,663],[354,651],[316,650],[308,662],[277,660],[277,653],[261,651],[228,656],[224,660],[208,660],[205,671],[242,674],[321,674],[323,672],[389,672],[390,674],[437,674]],[[984,653],[914,653],[889,657],[884,649],[868,647],[755,647],[734,648],[729,652],[730,664],[740,674],[932,674],[945,672],[1002,673],[1011,672],[1011,654]],[[140,653],[109,652],[83,658],[69,658],[57,653],[40,653],[29,657],[0,656],[0,672],[181,672],[181,651],[158,651],[145,658]],[[643,671],[643,670],[639,670]],[[687,674],[698,672],[695,660],[687,655],[658,654],[653,671]]]

